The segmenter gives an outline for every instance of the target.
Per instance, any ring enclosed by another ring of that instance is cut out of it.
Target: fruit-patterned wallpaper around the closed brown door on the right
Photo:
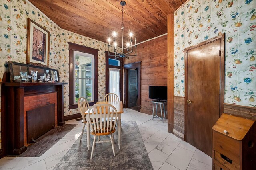
[[[222,33],[224,102],[256,107],[256,0],[190,0],[174,13],[174,95],[184,96],[184,49]]]

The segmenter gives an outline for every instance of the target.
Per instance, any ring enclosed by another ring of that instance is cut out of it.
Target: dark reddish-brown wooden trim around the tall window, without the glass
[[[94,102],[89,102],[92,106],[98,102],[98,49],[93,49],[83,45],[68,42],[69,45],[69,109],[78,108],[74,104],[74,51],[80,51],[94,55]]]

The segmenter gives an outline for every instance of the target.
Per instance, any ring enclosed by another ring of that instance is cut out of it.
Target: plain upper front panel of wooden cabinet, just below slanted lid
[[[213,149],[240,165],[240,142],[213,131]]]

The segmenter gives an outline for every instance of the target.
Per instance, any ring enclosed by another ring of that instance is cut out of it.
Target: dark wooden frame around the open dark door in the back
[[[123,65],[124,68],[124,108],[128,108],[128,70],[132,68],[138,69],[138,112],[140,112],[141,98],[140,98],[140,70],[141,61],[135,63],[128,63]]]

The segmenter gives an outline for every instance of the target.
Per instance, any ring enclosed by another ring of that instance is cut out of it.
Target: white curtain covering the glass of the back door
[[[120,80],[120,69],[117,68],[109,68],[109,92],[117,94],[119,100],[119,80]]]

